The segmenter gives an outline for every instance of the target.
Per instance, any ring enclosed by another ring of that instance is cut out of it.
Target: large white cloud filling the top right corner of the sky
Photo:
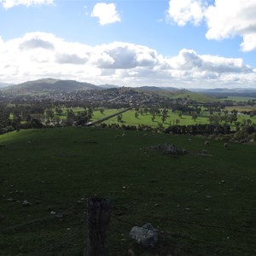
[[[256,49],[256,1],[216,0],[205,14],[208,39],[241,36],[241,49]]]

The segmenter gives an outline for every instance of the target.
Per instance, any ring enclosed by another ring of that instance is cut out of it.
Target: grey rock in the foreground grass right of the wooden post
[[[148,248],[155,247],[158,241],[158,233],[150,223],[144,224],[143,227],[133,227],[130,236],[135,239],[138,244]]]

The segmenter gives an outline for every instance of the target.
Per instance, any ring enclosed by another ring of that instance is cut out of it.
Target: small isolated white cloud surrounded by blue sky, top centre
[[[90,16],[98,18],[101,25],[121,21],[114,3],[96,3]]]

